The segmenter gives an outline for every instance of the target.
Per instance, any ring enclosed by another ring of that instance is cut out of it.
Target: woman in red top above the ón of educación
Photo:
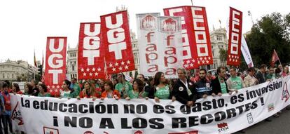
[[[118,100],[120,98],[120,93],[118,90],[114,90],[112,81],[105,81],[104,89],[105,91],[102,93],[101,100],[104,100],[104,98],[115,98]]]

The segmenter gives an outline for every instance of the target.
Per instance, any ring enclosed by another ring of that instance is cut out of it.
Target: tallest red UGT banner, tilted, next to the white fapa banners
[[[101,16],[102,45],[106,46],[108,74],[135,69],[127,11]]]

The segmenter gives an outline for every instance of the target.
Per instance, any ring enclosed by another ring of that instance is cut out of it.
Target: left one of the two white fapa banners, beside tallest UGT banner
[[[158,71],[158,65],[163,59],[158,56],[157,17],[160,13],[137,14],[138,50],[140,60],[140,73],[144,76],[154,76]]]

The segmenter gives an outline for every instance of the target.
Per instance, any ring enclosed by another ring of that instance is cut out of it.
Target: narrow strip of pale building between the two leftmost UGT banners
[[[67,49],[67,79],[78,79],[78,45]]]

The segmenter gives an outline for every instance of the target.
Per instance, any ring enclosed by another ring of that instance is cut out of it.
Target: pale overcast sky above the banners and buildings
[[[243,12],[242,32],[251,29],[251,11],[254,22],[263,15],[290,13],[283,0],[193,0],[194,6],[205,6],[209,30],[226,27],[229,6]],[[67,36],[68,46],[76,47],[81,22],[99,22],[100,15],[116,12],[125,6],[130,15],[130,29],[137,33],[135,15],[156,13],[163,8],[191,6],[191,0],[9,0],[0,1],[0,62],[25,60],[34,64],[46,52],[47,36]],[[221,20],[221,24],[219,23]]]

